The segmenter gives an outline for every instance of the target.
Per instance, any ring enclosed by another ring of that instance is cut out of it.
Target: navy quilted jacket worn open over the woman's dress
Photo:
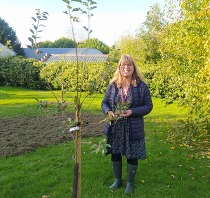
[[[129,117],[131,125],[131,140],[139,140],[144,137],[144,118],[152,111],[153,104],[150,96],[150,91],[144,82],[138,80],[137,86],[131,85],[131,93],[133,101],[129,107],[132,110],[132,115]],[[104,114],[108,111],[114,110],[114,100],[117,94],[117,87],[115,83],[109,84],[106,89],[104,98],[102,100],[101,108]],[[108,123],[104,126],[104,133],[108,135],[110,125]]]

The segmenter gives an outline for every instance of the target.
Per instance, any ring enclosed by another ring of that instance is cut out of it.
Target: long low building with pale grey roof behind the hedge
[[[101,51],[94,48],[24,48],[26,58],[36,58],[40,61],[50,62],[105,62],[108,55],[104,55]]]

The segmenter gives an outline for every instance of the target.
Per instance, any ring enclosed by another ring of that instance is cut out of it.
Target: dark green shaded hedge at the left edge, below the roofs
[[[46,89],[47,83],[40,78],[45,64],[35,59],[7,57],[0,59],[0,85],[28,89]]]

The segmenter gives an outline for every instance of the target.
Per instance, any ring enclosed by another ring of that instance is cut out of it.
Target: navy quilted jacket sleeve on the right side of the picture
[[[144,86],[141,88],[140,97],[143,97],[142,104],[138,107],[130,108],[132,110],[131,117],[142,117],[152,111],[152,98],[150,95],[149,87],[146,84],[144,84]]]

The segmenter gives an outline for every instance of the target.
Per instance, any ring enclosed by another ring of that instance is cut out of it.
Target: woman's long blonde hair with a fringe
[[[120,66],[122,65],[122,63],[128,63],[128,64],[132,64],[134,67],[134,71],[132,74],[132,79],[131,79],[131,84],[133,86],[137,86],[136,84],[136,80],[139,79],[143,82],[146,83],[146,79],[144,78],[143,74],[139,71],[134,59],[132,58],[131,55],[129,54],[125,54],[122,55],[119,62],[118,62],[118,67],[114,73],[114,77],[110,80],[110,83],[115,82],[117,84],[117,87],[122,87],[123,84],[123,76],[120,73]]]

